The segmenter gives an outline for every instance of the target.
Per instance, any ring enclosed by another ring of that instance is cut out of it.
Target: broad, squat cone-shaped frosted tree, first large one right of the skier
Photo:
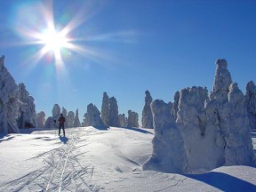
[[[87,112],[84,114],[84,125],[85,126],[104,126],[99,109],[90,103],[87,106]]]

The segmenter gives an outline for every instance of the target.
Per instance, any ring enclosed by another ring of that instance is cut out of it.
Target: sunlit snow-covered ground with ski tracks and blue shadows
[[[197,175],[142,171],[153,130],[66,132],[68,140],[56,130],[0,136],[0,191],[256,191],[256,169],[248,166]],[[255,150],[256,133],[252,140]]]

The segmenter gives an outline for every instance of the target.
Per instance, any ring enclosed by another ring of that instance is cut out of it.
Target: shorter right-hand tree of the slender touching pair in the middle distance
[[[108,124],[109,126],[119,127],[118,121],[118,106],[115,97],[111,97],[109,100],[109,113],[108,113]]]

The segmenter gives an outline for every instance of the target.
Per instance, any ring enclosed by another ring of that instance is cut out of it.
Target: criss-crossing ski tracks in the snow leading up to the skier
[[[87,161],[86,166],[82,166],[77,159],[81,155],[77,150],[80,147],[76,147],[80,139],[78,133],[81,132],[67,132],[70,135],[67,143],[51,150],[50,155],[42,155],[42,168],[12,180],[0,191],[99,191],[97,180],[92,180],[94,165]]]

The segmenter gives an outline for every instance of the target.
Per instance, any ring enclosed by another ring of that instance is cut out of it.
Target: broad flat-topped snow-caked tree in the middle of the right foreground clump
[[[189,169],[193,173],[208,172],[216,168],[216,162],[222,156],[215,143],[215,130],[205,130],[205,100],[208,100],[205,87],[194,86],[180,91],[176,123],[184,141]]]

